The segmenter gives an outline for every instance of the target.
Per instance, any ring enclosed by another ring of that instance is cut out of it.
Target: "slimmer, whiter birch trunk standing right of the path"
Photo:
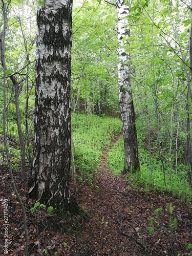
[[[126,16],[129,15],[129,6],[124,4],[123,0],[116,1],[118,16],[118,77],[119,77],[119,100],[120,112],[123,123],[124,137],[124,169],[123,172],[130,172],[131,169],[139,170],[139,158],[137,147],[136,117],[131,91],[130,65],[127,63],[130,59],[125,46],[129,44],[127,38],[130,36],[129,23]]]

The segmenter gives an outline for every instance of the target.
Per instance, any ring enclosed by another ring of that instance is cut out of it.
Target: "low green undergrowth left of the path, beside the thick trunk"
[[[113,134],[121,132],[122,123],[118,118],[75,114],[72,127],[78,181],[92,185],[102,152],[110,145]]]

